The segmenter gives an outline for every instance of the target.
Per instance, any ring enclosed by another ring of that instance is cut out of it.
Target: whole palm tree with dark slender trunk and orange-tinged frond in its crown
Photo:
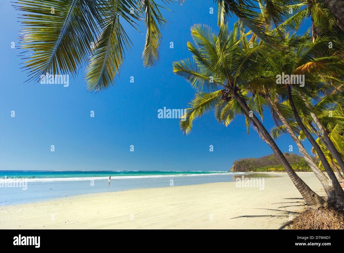
[[[319,75],[328,74],[329,71],[337,71],[338,73],[343,71],[343,62],[340,57],[329,56],[329,57],[316,57],[316,52],[320,48],[324,48],[328,43],[328,39],[325,37],[318,37],[313,43],[310,40],[308,33],[303,37],[297,38],[296,35],[292,35],[295,39],[292,40],[292,43],[288,46],[289,50],[279,51],[275,55],[271,55],[267,59],[266,73],[270,77],[270,81],[282,75],[282,73],[290,75],[299,75],[303,74],[305,79],[303,80],[304,84],[300,87],[299,84],[295,84],[292,80],[286,79],[283,82],[277,82],[277,87],[279,93],[282,96],[285,96],[290,104],[294,118],[298,123],[298,126],[306,135],[310,143],[315,148],[317,154],[322,161],[322,164],[328,173],[330,179],[333,182],[333,187],[336,192],[337,204],[339,208],[344,208],[344,192],[336,179],[336,176],[331,169],[331,166],[325,159],[320,147],[309,133],[308,129],[303,125],[302,120],[299,116],[299,112],[294,102],[298,102],[297,105],[299,108],[304,107],[304,104],[307,104],[307,101],[301,97],[297,97],[297,93],[292,94],[292,88],[298,93],[307,93],[307,89],[312,89],[314,86],[318,85]],[[271,72],[271,73],[268,73]],[[272,85],[270,84],[270,87]],[[296,100],[298,98],[298,100]],[[307,108],[306,108],[307,109]]]

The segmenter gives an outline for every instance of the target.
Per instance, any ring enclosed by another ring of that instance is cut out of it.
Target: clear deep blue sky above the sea
[[[20,29],[18,11],[10,1],[0,3],[1,99],[0,169],[2,170],[229,170],[239,158],[272,153],[257,133],[246,134],[244,117],[228,127],[213,113],[197,119],[191,134],[184,136],[178,119],[159,119],[158,109],[186,108],[194,90],[172,73],[172,63],[187,57],[190,27],[207,24],[217,29],[217,6],[209,1],[186,0],[164,11],[170,21],[162,32],[160,63],[142,66],[145,35],[128,29],[134,46],[126,54],[116,85],[107,91],[88,93],[84,67],[69,86],[24,84],[18,56],[12,49]],[[214,14],[209,14],[209,8]],[[234,19],[229,26],[233,26]],[[143,26],[143,24],[142,24]],[[170,49],[170,42],[174,48]],[[134,83],[130,83],[134,76]],[[15,117],[11,117],[11,111]],[[90,117],[93,110],[95,117]],[[267,129],[274,126],[268,112]],[[277,140],[282,152],[296,145],[288,135]],[[51,152],[51,145],[55,151]],[[130,152],[134,145],[134,152]],[[209,151],[213,145],[214,151]],[[311,145],[305,142],[310,150]]]

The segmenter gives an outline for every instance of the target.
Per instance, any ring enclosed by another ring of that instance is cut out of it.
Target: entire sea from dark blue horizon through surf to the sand
[[[2,170],[0,205],[139,188],[232,182],[244,172],[146,170]],[[111,179],[109,180],[109,177]]]

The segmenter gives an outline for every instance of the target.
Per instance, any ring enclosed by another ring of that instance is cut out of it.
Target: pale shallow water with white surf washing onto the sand
[[[4,185],[9,184],[9,181],[2,180],[2,183],[0,183],[0,185],[2,185],[2,187],[0,187],[0,205],[26,203],[87,193],[123,191],[138,188],[171,187],[172,185],[184,186],[214,182],[233,182],[236,181],[238,177],[241,178],[241,176],[247,174],[243,172],[225,171],[216,173],[202,171],[202,173],[193,174],[190,173],[190,171],[187,172],[188,173],[179,172],[178,174],[171,175],[168,175],[166,172],[160,173],[160,175],[146,174],[140,176],[137,174],[135,176],[128,176],[128,174],[118,176],[118,174],[115,174],[116,176],[111,176],[110,181],[108,177],[100,177],[100,175],[104,174],[99,171],[99,177],[93,176],[92,178],[83,175],[83,177],[80,178],[81,180],[77,178],[70,180],[71,178],[62,177],[55,177],[53,180],[52,177],[49,180],[11,180],[12,186],[15,184],[19,186],[19,181],[25,181],[26,185],[22,182],[22,185],[19,187],[4,187]],[[271,177],[271,175],[256,173],[248,173],[248,175],[245,175],[245,177]],[[23,190],[25,188],[26,190]]]

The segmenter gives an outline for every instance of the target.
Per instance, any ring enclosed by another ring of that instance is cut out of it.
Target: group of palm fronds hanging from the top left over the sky
[[[161,33],[167,21],[165,7],[154,0],[20,0],[23,28],[19,36],[29,80],[41,75],[76,75],[87,62],[85,79],[91,92],[114,84],[125,51],[132,45],[123,24],[138,30],[146,25],[142,59],[146,67],[159,60]],[[172,0],[159,0],[169,4]],[[26,14],[25,14],[26,13]]]

